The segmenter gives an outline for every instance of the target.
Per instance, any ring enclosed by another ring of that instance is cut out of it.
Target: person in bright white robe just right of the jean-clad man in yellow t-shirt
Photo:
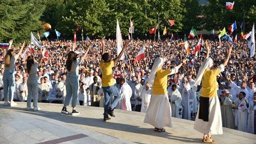
[[[132,97],[132,89],[129,86],[129,84],[127,84],[125,82],[124,78],[120,79],[120,109],[121,110],[132,110],[132,106],[131,106],[131,102],[130,102],[130,98]]]

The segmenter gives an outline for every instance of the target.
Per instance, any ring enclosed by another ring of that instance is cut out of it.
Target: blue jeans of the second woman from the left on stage
[[[28,78],[27,81],[28,86],[28,99],[27,99],[27,106],[31,106],[31,99],[32,96],[34,98],[33,100],[33,106],[37,106],[38,101],[38,81],[37,77]]]

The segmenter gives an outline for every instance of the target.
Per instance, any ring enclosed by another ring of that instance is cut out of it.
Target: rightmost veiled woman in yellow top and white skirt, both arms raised
[[[198,70],[194,86],[200,85],[202,81],[202,89],[200,103],[198,106],[198,114],[194,124],[194,129],[202,132],[204,137],[202,142],[213,143],[212,134],[222,134],[222,118],[220,111],[220,101],[217,95],[218,82],[216,76],[224,71],[224,67],[228,64],[232,47],[228,50],[228,55],[223,64],[215,69],[213,61],[209,58],[211,45],[207,47],[206,58]]]

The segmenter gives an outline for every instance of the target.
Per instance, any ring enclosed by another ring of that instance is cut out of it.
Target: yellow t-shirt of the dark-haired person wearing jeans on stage
[[[100,61],[100,69],[102,71],[102,86],[112,86],[114,85],[114,78],[112,73],[112,68],[114,67],[114,61],[104,62],[103,60]]]

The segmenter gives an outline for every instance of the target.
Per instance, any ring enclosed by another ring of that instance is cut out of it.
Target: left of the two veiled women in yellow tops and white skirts
[[[153,87],[144,122],[154,126],[156,132],[165,132],[164,127],[166,126],[172,127],[172,110],[167,94],[167,76],[178,72],[178,69],[186,62],[184,59],[171,70],[164,70],[162,67],[166,60],[167,58],[156,58],[148,77],[148,84]]]

